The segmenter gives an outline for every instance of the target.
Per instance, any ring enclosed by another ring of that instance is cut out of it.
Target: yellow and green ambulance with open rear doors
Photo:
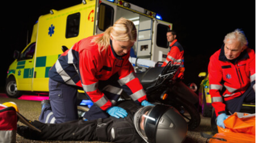
[[[23,92],[48,93],[48,71],[63,53],[82,38],[100,34],[119,18],[132,20],[138,39],[136,58],[164,61],[169,51],[166,32],[172,24],[159,14],[122,0],[83,0],[63,10],[50,10],[33,27],[31,42],[22,52],[14,52],[6,79],[6,94],[11,98]]]

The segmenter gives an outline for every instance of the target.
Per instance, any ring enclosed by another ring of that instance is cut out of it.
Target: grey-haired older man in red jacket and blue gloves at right
[[[244,32],[236,29],[224,38],[208,65],[210,94],[217,125],[227,114],[240,111],[242,102],[255,102],[255,52],[247,47]]]

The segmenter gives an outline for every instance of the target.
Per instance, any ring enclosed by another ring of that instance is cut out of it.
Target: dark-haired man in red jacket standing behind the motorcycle
[[[182,64],[182,67],[184,67],[184,50],[176,39],[176,32],[168,31],[167,41],[170,42],[170,51],[162,67],[166,66],[169,61],[172,61],[173,64]]]

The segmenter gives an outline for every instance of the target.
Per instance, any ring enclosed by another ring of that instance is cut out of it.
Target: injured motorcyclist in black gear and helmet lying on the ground
[[[118,102],[128,113],[125,118],[110,116],[97,120],[75,120],[59,124],[31,122],[41,132],[18,126],[20,136],[31,140],[106,142],[183,142],[187,123],[172,106],[138,106],[133,101]]]

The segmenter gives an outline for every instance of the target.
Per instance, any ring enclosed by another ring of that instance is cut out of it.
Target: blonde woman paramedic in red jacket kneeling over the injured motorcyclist
[[[63,123],[78,119],[78,86],[93,102],[84,115],[88,120],[109,115],[124,118],[126,110],[115,106],[122,89],[139,105],[151,105],[129,62],[136,36],[133,22],[121,18],[103,34],[84,38],[65,51],[49,71],[50,103],[42,103],[39,120]]]

